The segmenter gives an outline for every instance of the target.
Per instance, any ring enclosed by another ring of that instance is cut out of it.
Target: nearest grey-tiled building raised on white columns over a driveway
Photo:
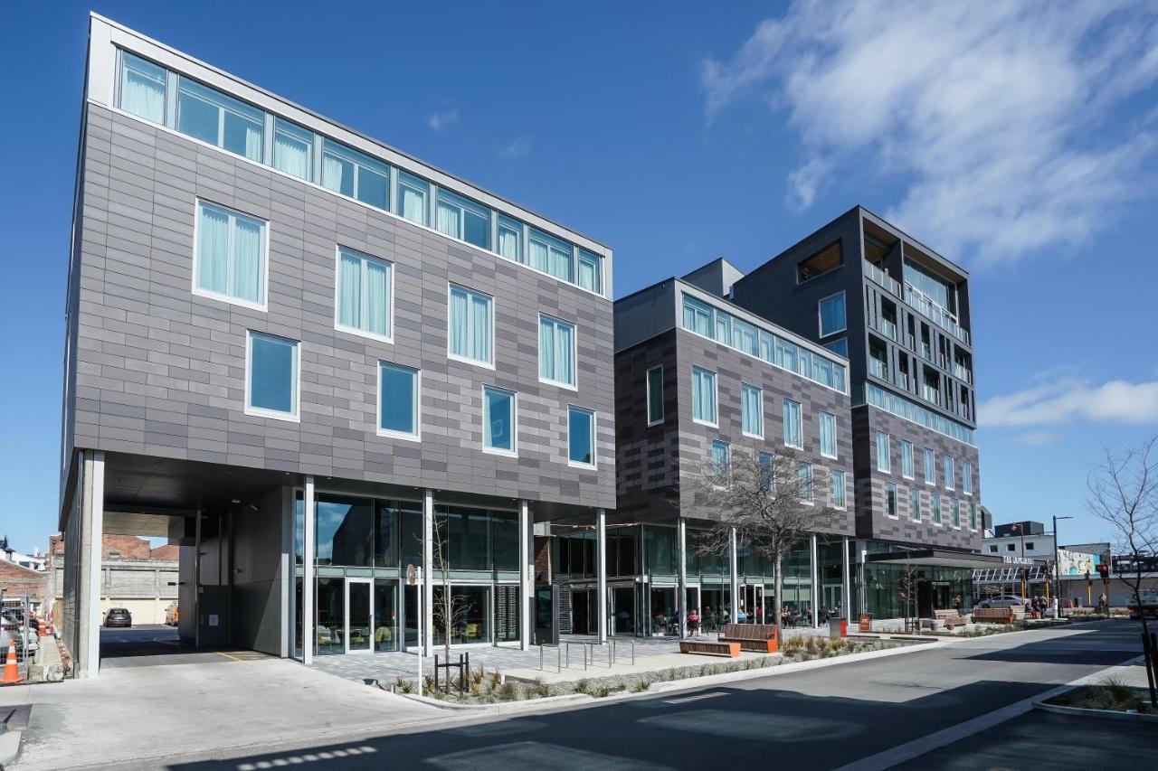
[[[528,645],[533,523],[615,506],[610,296],[604,244],[94,15],[60,500],[79,674],[102,533],[193,546],[201,645],[430,645],[444,579],[454,642]]]

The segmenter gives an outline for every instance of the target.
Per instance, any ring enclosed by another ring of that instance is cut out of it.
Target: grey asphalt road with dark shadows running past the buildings
[[[1121,663],[1137,648],[1136,625],[1127,622],[996,636],[654,698],[325,746],[287,744],[241,757],[175,759],[168,768],[251,771],[323,761],[327,769],[342,770],[704,769],[758,758],[828,769]],[[968,758],[968,742],[959,744],[957,757]],[[973,768],[960,762],[954,768]],[[943,758],[931,755],[911,765],[941,768]],[[1067,766],[1064,758],[1039,756],[1023,768]]]

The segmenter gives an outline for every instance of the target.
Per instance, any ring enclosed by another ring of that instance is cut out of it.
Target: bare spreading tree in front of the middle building
[[[772,612],[779,624],[784,556],[809,533],[831,527],[840,515],[837,509],[816,500],[828,497],[828,473],[791,449],[780,449],[775,455],[735,451],[721,467],[710,463],[691,484],[696,509],[716,522],[697,538],[697,549],[726,555],[734,530],[738,550],[767,558],[776,571]],[[732,597],[732,607],[735,618],[739,597]],[[819,608],[813,608],[813,612],[819,612]]]

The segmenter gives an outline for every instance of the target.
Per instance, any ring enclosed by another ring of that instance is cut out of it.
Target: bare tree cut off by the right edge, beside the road
[[[1143,557],[1150,557],[1158,544],[1158,436],[1144,441],[1126,453],[1104,448],[1105,460],[1094,467],[1087,482],[1086,508],[1091,514],[1114,528],[1115,551],[1122,557],[1111,570],[1134,595],[1134,605],[1142,618],[1142,634],[1150,639],[1142,593],[1153,589],[1153,582],[1143,577]],[[1146,586],[1149,583],[1149,586]],[[1153,671],[1155,652],[1150,651],[1146,667]],[[1158,689],[1150,678],[1150,703],[1158,707]]]

